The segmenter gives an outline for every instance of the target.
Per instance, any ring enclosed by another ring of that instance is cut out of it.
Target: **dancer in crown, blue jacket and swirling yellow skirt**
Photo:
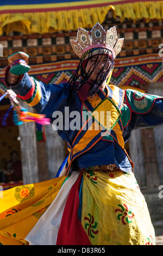
[[[80,62],[68,83],[46,86],[27,73],[6,72],[7,85],[51,119],[70,154],[56,178],[4,192],[0,241],[153,245],[154,228],[124,143],[132,130],[163,123],[162,98],[109,84],[123,45],[115,27],[79,28],[71,44]]]

